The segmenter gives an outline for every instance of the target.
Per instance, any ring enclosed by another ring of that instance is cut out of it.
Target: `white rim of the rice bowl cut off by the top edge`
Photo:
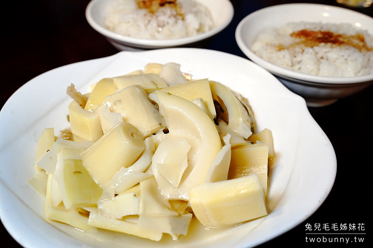
[[[132,44],[132,45],[138,45],[138,46],[164,48],[164,47],[169,47],[169,46],[181,46],[185,44],[202,41],[204,39],[207,39],[207,38],[210,38],[211,36],[216,35],[220,31],[225,29],[229,25],[229,23],[232,22],[233,15],[234,15],[234,9],[233,9],[233,5],[231,1],[224,0],[227,2],[227,5],[228,5],[228,9],[227,9],[227,11],[229,11],[228,18],[221,25],[214,27],[213,29],[205,33],[201,33],[201,34],[194,35],[194,36],[188,36],[184,38],[176,38],[176,39],[143,39],[143,38],[135,38],[135,37],[125,36],[125,35],[120,35],[118,33],[112,32],[104,28],[103,26],[99,25],[95,21],[91,13],[94,4],[98,1],[102,1],[102,0],[91,0],[87,5],[87,8],[85,10],[85,17],[87,19],[88,24],[93,29],[95,29],[97,32],[101,33],[101,35],[104,35],[109,39],[112,39],[116,42],[120,42],[123,44]]]

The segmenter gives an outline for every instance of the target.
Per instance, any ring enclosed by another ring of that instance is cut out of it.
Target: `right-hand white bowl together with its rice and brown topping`
[[[280,4],[251,13],[236,42],[253,62],[327,106],[373,83],[373,18],[323,4]]]

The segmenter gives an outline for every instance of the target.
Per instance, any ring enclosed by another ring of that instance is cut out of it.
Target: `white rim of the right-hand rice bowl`
[[[312,83],[327,83],[327,84],[354,84],[354,83],[364,83],[367,81],[372,81],[373,80],[373,74],[368,74],[368,75],[362,75],[362,76],[354,76],[354,77],[328,77],[328,76],[319,76],[319,75],[311,75],[311,74],[305,74],[305,73],[300,73],[297,71],[292,71],[290,69],[286,69],[283,67],[280,67],[278,65],[272,64],[265,59],[259,57],[256,55],[251,49],[246,45],[244,40],[242,39],[241,33],[243,31],[243,27],[246,22],[248,22],[250,19],[253,19],[257,15],[261,15],[263,12],[268,12],[271,11],[272,9],[286,9],[288,7],[301,7],[301,8],[307,8],[310,6],[317,7],[325,10],[327,9],[333,9],[337,11],[341,11],[344,13],[352,13],[353,15],[360,16],[365,19],[369,19],[373,23],[373,18],[367,15],[364,15],[363,13],[356,12],[354,10],[346,9],[343,7],[338,7],[338,6],[331,6],[331,5],[326,5],[326,4],[315,4],[315,3],[287,3],[287,4],[278,4],[274,6],[269,6],[265,7],[260,10],[256,10],[255,12],[250,13],[244,19],[242,19],[235,31],[235,38],[236,42],[241,49],[241,51],[253,62],[256,64],[260,65],[264,69],[270,71],[270,73],[273,73],[277,76],[280,77],[285,77],[285,78],[294,78],[296,80],[301,80],[305,82],[312,82]],[[373,35],[373,34],[372,34]]]

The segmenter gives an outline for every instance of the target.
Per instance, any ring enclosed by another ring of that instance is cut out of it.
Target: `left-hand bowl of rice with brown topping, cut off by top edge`
[[[204,47],[233,18],[229,0],[92,0],[88,23],[117,49]]]

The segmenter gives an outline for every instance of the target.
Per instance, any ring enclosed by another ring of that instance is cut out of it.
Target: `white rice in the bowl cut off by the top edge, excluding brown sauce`
[[[161,7],[152,14],[139,9],[136,0],[115,0],[106,13],[104,25],[121,35],[144,39],[184,38],[213,28],[207,7],[193,0],[178,0],[177,3],[184,18],[170,7]]]

